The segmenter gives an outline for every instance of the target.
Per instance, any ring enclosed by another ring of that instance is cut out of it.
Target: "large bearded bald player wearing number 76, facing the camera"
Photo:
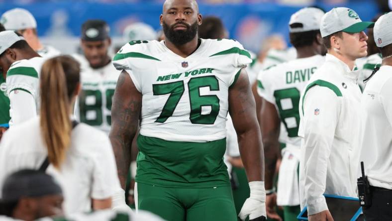
[[[124,188],[140,117],[138,209],[170,221],[236,221],[223,163],[230,112],[250,187],[239,216],[265,217],[261,133],[244,70],[252,60],[235,40],[199,39],[201,21],[195,0],[167,0],[165,40],[132,41],[114,56],[122,73],[109,136],[120,182]]]

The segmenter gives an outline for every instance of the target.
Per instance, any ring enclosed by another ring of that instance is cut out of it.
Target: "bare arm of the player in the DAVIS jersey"
[[[280,119],[275,106],[263,99],[260,114],[260,128],[263,135],[264,158],[265,158],[265,187],[273,188],[273,180],[276,170],[276,162],[279,157],[279,132]]]

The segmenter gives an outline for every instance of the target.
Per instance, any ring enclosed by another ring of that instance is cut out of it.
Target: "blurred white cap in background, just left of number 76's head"
[[[122,35],[124,41],[155,40],[157,33],[150,25],[137,22],[126,26]]]

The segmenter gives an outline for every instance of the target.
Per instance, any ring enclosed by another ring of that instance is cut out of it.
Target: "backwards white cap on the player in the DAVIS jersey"
[[[289,21],[290,33],[305,32],[320,29],[321,18],[324,11],[316,7],[304,7],[295,12]],[[300,27],[291,27],[292,24],[302,24]]]

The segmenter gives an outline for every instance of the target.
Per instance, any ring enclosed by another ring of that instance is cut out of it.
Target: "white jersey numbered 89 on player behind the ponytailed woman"
[[[81,64],[82,83],[75,115],[81,122],[108,134],[111,125],[112,97],[121,71],[116,70],[111,62],[102,68],[93,69],[85,57],[74,58]]]

